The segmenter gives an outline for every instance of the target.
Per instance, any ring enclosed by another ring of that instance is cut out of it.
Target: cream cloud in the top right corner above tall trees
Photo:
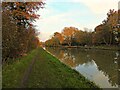
[[[118,0],[76,0],[81,1],[95,14],[107,13],[109,9],[118,9]]]

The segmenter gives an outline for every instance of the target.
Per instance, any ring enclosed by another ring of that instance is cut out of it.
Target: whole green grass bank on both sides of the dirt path
[[[25,88],[98,88],[42,48],[3,68],[3,88],[19,87],[25,69],[29,67],[33,58],[35,63],[24,83]]]

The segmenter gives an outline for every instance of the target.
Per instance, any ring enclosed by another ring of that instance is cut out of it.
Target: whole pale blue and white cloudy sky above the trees
[[[46,0],[45,8],[37,13],[40,18],[34,23],[40,32],[40,41],[49,39],[54,32],[64,27],[79,30],[91,29],[102,23],[110,9],[118,10],[119,0]]]

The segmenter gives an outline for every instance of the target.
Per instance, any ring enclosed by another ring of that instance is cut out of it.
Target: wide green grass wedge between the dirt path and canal
[[[27,87],[36,88],[97,88],[78,72],[39,48],[39,56],[29,77]]]

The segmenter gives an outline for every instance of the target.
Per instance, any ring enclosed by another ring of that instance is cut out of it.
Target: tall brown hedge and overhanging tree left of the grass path
[[[39,18],[41,2],[2,2],[2,61],[25,55],[39,45],[32,24]]]

